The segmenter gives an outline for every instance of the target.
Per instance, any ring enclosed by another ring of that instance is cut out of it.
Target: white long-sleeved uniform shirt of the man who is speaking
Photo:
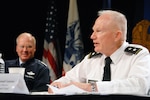
[[[142,49],[137,54],[125,52],[129,46]],[[140,45],[123,45],[110,57],[111,81],[102,81],[105,55],[89,58],[89,55],[77,64],[66,76],[56,80],[63,83],[70,81],[88,82],[96,80],[100,94],[147,94],[150,87],[150,54]]]

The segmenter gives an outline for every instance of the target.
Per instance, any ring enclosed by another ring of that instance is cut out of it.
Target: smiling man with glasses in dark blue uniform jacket
[[[17,59],[5,60],[5,72],[9,67],[24,67],[24,79],[30,92],[47,91],[46,84],[50,83],[49,68],[42,61],[34,58],[36,39],[27,32],[20,34],[16,39]]]

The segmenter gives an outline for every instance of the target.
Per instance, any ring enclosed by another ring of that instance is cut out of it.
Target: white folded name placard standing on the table
[[[29,94],[25,80],[21,74],[0,74],[0,93]]]

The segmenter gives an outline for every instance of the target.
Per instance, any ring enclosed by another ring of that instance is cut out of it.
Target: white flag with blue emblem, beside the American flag
[[[70,0],[62,75],[82,60],[83,48],[77,1]]]

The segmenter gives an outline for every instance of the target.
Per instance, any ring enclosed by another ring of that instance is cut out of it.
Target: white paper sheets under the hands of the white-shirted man
[[[78,88],[75,85],[69,85],[67,87],[64,88],[60,88],[58,89],[57,87],[54,87],[52,85],[48,85],[49,88],[52,89],[54,94],[67,94],[67,95],[72,95],[72,94],[83,94],[83,93],[87,93],[87,91],[84,91],[80,88]]]

